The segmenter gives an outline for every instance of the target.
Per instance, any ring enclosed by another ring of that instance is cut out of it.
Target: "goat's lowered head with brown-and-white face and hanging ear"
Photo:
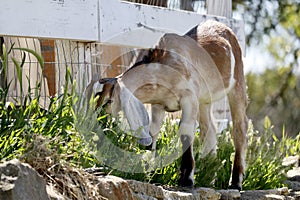
[[[139,143],[144,146],[152,143],[147,110],[122,83],[121,78],[100,79],[92,87],[95,97],[98,98],[96,108],[102,107],[113,116],[123,111],[134,136],[140,138]]]

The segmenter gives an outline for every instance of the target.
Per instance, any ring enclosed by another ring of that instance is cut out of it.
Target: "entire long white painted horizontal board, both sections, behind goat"
[[[166,32],[184,34],[209,18],[245,45],[242,21],[118,0],[0,0],[0,35],[96,41],[148,48]],[[243,48],[244,49],[244,48]]]

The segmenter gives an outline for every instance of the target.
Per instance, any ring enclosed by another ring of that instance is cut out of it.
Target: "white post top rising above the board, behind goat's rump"
[[[232,18],[232,0],[206,0],[207,14]]]

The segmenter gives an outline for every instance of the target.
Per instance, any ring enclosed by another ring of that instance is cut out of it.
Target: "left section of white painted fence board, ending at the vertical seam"
[[[0,0],[0,35],[97,41],[98,0]]]

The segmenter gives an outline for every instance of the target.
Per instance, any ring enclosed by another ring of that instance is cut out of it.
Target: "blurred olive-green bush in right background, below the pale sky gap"
[[[289,136],[300,130],[300,78],[289,68],[268,69],[262,74],[248,74],[250,104],[248,116],[255,128],[264,130],[264,117],[268,115],[275,124],[274,132],[281,137],[282,127]]]

